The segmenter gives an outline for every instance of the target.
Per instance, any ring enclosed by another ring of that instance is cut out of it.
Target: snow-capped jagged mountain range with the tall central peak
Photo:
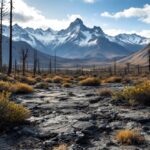
[[[3,35],[9,37],[7,26],[4,26]],[[86,27],[81,19],[76,19],[61,31],[50,28],[34,30],[16,24],[13,26],[13,40],[28,43],[28,46],[41,52],[43,57],[54,55],[56,51],[59,57],[96,61],[128,56],[150,42],[150,39],[136,34],[109,36],[100,27]]]

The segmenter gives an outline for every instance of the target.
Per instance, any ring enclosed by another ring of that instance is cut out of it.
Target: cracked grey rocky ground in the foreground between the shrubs
[[[120,105],[95,91],[53,87],[17,96],[32,116],[26,125],[0,135],[0,150],[51,150],[60,143],[69,150],[150,150],[150,108]],[[115,139],[120,129],[140,130],[146,142],[122,146]]]

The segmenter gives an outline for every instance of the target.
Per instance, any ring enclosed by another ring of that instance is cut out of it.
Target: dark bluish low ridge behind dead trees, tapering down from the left
[[[27,63],[28,65],[32,66],[33,65],[33,57],[34,57],[34,52],[37,51],[37,58],[40,61],[40,67],[41,68],[48,68],[50,59],[51,59],[51,65],[52,68],[54,67],[54,61],[55,57],[45,54],[43,52],[38,51],[37,49],[33,48],[31,45],[29,45],[26,42],[23,41],[13,41],[13,65],[15,64],[15,61],[17,61],[17,64],[22,63],[22,56],[21,52],[22,49],[28,49],[28,57],[27,57]],[[3,64],[8,64],[8,59],[9,59],[9,38],[3,36]],[[97,59],[66,59],[66,58],[61,58],[61,57],[56,57],[57,68],[67,68],[67,67],[76,67],[77,65],[100,65],[100,64],[106,64],[106,62],[99,61]]]

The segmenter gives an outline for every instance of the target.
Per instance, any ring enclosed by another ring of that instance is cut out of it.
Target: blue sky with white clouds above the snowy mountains
[[[79,17],[110,35],[150,37],[150,0],[15,0],[14,6],[15,22],[23,27],[60,30]]]

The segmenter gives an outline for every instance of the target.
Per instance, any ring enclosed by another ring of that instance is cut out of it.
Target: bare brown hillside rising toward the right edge
[[[144,49],[139,50],[136,53],[133,53],[130,56],[127,56],[118,61],[118,63],[126,64],[131,63],[134,65],[147,65],[148,64],[148,51],[150,51],[150,44]]]

